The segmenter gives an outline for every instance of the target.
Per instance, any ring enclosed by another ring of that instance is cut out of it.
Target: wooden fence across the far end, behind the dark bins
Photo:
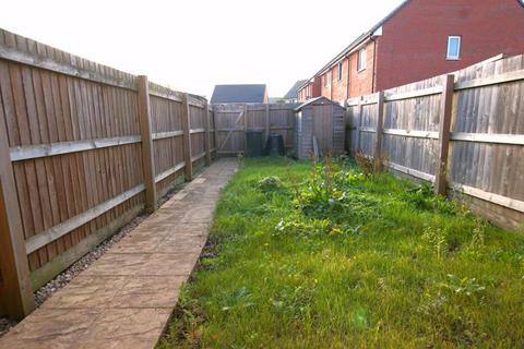
[[[297,104],[224,104],[213,105],[215,140],[218,155],[236,155],[246,151],[246,130],[262,131],[262,139],[279,133],[286,148],[294,147],[294,108]]]

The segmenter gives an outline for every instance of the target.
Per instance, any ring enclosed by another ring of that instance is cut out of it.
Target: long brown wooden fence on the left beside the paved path
[[[0,31],[0,314],[211,163],[207,100]]]

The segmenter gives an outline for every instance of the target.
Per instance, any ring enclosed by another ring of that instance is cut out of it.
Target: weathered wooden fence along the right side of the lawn
[[[463,193],[504,227],[524,221],[524,58],[495,57],[347,106],[350,152]],[[378,136],[377,136],[378,135]]]

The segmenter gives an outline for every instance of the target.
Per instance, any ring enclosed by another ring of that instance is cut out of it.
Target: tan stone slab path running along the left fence
[[[221,159],[0,339],[1,349],[154,348],[207,239]]]

